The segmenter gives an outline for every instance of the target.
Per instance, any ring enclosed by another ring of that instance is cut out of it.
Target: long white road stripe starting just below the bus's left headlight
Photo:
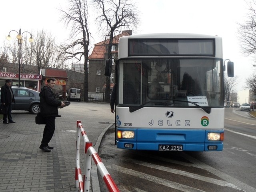
[[[170,168],[170,167],[164,167],[164,166],[151,164],[151,163],[148,163],[148,162],[143,162],[143,161],[139,161],[139,160],[135,160],[135,159],[131,159],[131,158],[126,158],[124,161],[128,161],[128,162],[131,162],[131,163],[134,163],[134,164],[138,164],[138,165],[158,169],[158,170],[173,173],[173,174],[182,175],[182,176],[185,176],[185,177],[201,180],[201,181],[216,184],[216,185],[219,185],[219,186],[226,186],[226,187],[231,187],[231,188],[234,188],[234,189],[241,190],[237,186],[235,186],[235,185],[233,185],[229,182],[226,182],[226,181],[222,181],[222,180],[218,180],[218,179],[214,179],[214,178],[210,178],[210,177],[206,177],[206,176],[201,176],[201,175],[198,175],[198,174],[173,169],[173,168]]]

